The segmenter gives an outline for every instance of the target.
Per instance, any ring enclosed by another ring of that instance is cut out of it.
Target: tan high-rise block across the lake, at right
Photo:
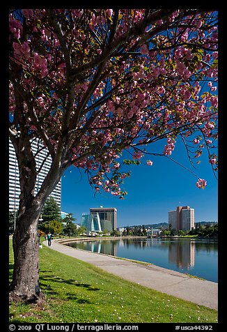
[[[177,206],[175,211],[169,211],[169,225],[177,230],[191,230],[194,229],[195,210],[190,209],[189,206]]]

